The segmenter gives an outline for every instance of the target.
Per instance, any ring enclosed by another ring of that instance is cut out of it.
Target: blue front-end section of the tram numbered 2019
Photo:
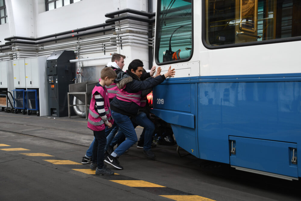
[[[172,126],[177,144],[199,157],[195,125],[196,84],[189,77],[167,79],[153,90],[151,112]]]

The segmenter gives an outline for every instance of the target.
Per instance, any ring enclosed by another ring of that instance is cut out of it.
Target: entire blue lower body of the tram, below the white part
[[[166,80],[154,89],[152,113],[200,159],[297,178],[301,169],[292,157],[301,136],[301,76],[259,76]]]

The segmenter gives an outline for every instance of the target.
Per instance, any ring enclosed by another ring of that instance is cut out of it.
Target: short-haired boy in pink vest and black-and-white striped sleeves
[[[104,165],[104,149],[107,145],[105,127],[112,127],[114,123],[111,118],[110,102],[105,86],[110,86],[116,78],[112,68],[101,70],[101,80],[92,90],[92,99],[89,108],[88,128],[93,130],[95,142],[92,151],[92,163],[90,169],[96,170],[96,175],[113,175]]]

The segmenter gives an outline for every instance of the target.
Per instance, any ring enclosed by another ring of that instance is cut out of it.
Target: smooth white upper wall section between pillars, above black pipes
[[[105,20],[109,18],[104,15],[117,11],[119,7],[119,4],[114,2],[119,1],[82,0],[51,11],[41,12],[37,16],[37,36],[105,23]]]

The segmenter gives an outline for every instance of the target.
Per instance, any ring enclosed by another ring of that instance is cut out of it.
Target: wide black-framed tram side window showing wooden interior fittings
[[[301,1],[206,0],[209,46],[301,36]]]

